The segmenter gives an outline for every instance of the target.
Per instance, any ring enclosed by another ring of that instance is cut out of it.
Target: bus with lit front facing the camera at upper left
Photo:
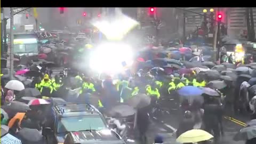
[[[18,33],[14,34],[14,54],[19,55],[38,55],[38,36],[36,33]]]

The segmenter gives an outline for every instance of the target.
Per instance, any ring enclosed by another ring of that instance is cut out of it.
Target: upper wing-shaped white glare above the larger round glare
[[[121,40],[131,29],[139,23],[124,14],[118,14],[113,20],[92,22],[109,40]]]

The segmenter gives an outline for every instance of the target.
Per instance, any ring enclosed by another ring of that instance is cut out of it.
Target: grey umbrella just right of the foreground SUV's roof
[[[109,116],[126,117],[134,115],[136,110],[129,105],[118,105],[109,109],[107,113]]]

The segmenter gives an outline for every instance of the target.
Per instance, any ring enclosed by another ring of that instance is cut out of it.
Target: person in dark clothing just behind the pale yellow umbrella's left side
[[[191,111],[187,110],[184,113],[184,118],[180,121],[179,128],[176,132],[176,137],[178,138],[182,133],[193,130],[195,125],[193,115]]]

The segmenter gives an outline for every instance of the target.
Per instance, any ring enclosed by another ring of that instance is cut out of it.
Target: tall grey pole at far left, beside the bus
[[[10,19],[10,44],[11,44],[11,51],[10,51],[10,79],[12,80],[13,79],[13,58],[14,58],[14,55],[13,55],[13,7],[10,8],[11,10],[11,19]],[[6,40],[5,40],[6,41]]]

